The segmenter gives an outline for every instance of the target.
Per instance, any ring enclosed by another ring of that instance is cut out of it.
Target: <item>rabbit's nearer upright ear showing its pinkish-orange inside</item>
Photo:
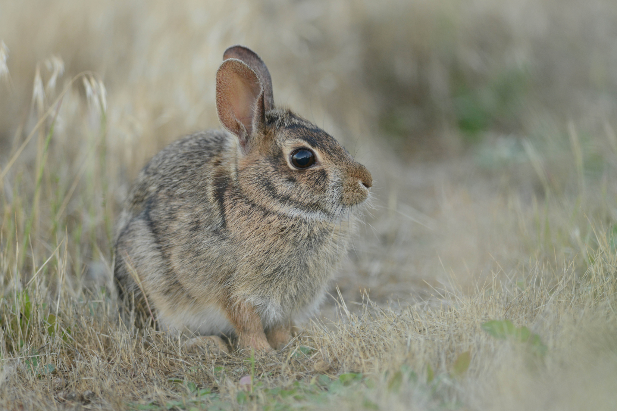
[[[255,71],[237,59],[227,59],[217,71],[217,113],[223,127],[247,149],[255,129],[263,126],[262,84]]]

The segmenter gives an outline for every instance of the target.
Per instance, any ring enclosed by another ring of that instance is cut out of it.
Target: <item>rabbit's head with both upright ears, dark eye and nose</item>
[[[255,205],[304,219],[333,219],[357,210],[372,177],[328,133],[275,108],[262,59],[242,46],[225,51],[217,71],[217,113],[238,137],[236,173]]]

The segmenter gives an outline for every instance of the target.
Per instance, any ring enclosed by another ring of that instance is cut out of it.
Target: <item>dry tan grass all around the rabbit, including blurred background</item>
[[[0,408],[612,409],[617,7],[563,3],[0,1]],[[110,291],[128,185],[218,126],[235,43],[375,176],[276,357],[186,353]]]

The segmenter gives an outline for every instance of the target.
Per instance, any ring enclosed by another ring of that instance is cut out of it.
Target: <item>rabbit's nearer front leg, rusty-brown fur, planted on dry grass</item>
[[[255,351],[272,351],[263,332],[262,319],[251,304],[234,304],[228,311],[228,318],[236,328],[238,349],[253,348]]]

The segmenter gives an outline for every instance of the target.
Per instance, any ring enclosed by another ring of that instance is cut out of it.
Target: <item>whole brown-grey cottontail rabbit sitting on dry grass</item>
[[[225,51],[216,105],[224,130],[172,142],[139,173],[118,221],[115,284],[162,330],[271,352],[323,301],[373,180],[328,133],[274,105],[247,47]]]

